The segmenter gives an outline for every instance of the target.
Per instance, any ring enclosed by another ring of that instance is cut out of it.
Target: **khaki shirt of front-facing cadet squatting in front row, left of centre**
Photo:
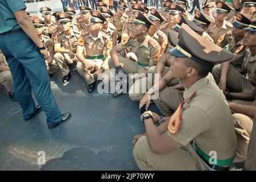
[[[100,31],[97,38],[93,38],[91,31],[85,32],[79,40],[79,46],[85,46],[86,56],[102,56],[105,51],[112,47],[109,35]]]

